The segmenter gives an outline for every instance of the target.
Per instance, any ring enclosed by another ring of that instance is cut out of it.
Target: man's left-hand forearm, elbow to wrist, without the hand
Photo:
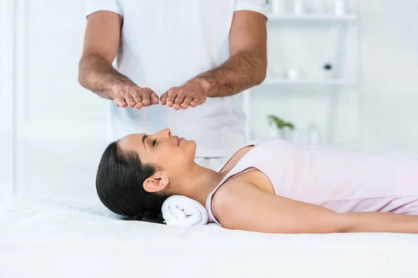
[[[135,85],[99,54],[82,57],[79,63],[79,83],[105,99],[113,99],[112,88],[118,83]]]

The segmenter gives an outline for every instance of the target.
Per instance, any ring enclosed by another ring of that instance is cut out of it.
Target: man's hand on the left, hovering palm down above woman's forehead
[[[140,88],[137,85],[117,83],[111,88],[111,98],[118,107],[141,109],[159,103],[157,94],[150,88]]]

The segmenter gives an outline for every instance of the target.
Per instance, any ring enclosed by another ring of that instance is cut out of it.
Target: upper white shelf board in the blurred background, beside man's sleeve
[[[268,22],[354,22],[356,15],[269,14]]]

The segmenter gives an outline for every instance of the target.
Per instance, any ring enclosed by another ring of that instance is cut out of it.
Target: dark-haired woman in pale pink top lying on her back
[[[163,222],[167,197],[206,206],[209,222],[266,233],[418,233],[418,156],[296,147],[272,139],[238,150],[219,172],[169,129],[105,150],[96,179],[109,210]]]

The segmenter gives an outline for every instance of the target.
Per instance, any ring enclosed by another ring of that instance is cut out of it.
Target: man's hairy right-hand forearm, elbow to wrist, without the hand
[[[239,51],[219,67],[194,78],[201,81],[207,97],[226,97],[258,85],[265,79],[267,58],[258,49]],[[193,80],[193,79],[192,79]]]

